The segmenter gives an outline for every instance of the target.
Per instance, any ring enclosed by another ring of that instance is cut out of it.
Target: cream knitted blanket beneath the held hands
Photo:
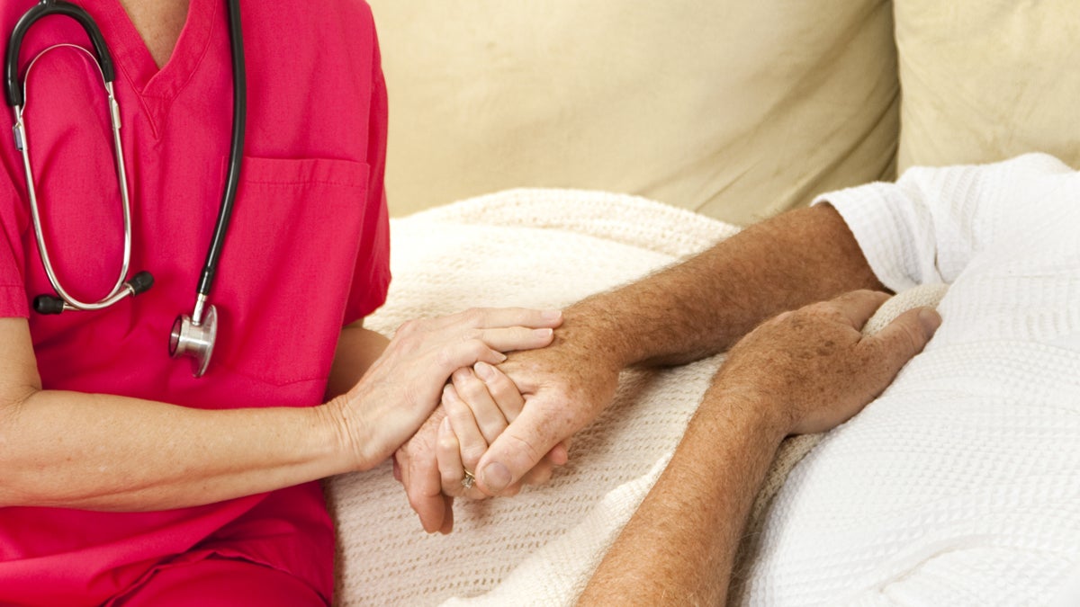
[[[368,323],[472,306],[564,307],[634,280],[737,229],[625,195],[512,190],[392,224],[394,281]],[[940,289],[894,298],[892,316]],[[880,325],[876,318],[870,325]],[[868,325],[868,326],[870,326]],[[455,532],[426,535],[389,463],[327,484],[338,525],[339,605],[565,605],[656,482],[719,364],[626,372],[613,404],[575,440],[570,462],[512,499],[455,504]],[[816,444],[785,443],[755,507],[744,555],[759,545],[769,498]]]

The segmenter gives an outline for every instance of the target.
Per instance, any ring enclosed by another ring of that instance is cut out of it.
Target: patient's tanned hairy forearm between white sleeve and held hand
[[[752,226],[697,257],[565,311],[557,335],[615,367],[681,364],[726,350],[779,312],[881,289],[828,205]]]

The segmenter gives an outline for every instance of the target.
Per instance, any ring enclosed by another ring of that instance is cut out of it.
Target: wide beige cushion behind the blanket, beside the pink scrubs
[[[880,0],[370,3],[395,215],[542,186],[747,224],[893,176]]]

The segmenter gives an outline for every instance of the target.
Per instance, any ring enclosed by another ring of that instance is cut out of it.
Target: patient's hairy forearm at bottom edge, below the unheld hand
[[[706,393],[579,604],[724,603],[739,538],[785,434],[768,409],[718,387]]]

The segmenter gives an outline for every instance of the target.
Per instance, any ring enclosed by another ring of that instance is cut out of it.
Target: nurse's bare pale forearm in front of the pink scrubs
[[[33,391],[0,408],[0,507],[198,505],[345,472],[349,454],[324,407],[201,410]]]

